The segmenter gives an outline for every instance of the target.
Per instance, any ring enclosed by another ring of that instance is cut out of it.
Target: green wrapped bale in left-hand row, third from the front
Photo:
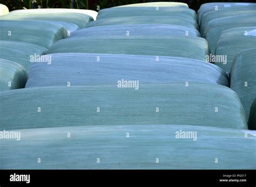
[[[0,20],[0,40],[22,41],[49,48],[68,33],[62,25],[47,21]]]

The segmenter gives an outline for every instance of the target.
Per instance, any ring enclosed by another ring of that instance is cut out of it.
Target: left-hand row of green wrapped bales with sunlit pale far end
[[[26,81],[30,66],[37,62],[38,56],[45,54],[53,42],[68,37],[71,32],[93,20],[85,13],[77,12],[79,11],[20,10],[0,17],[0,59],[5,60],[1,61],[1,76],[8,77],[1,80],[1,90],[24,88],[23,81]],[[10,62],[10,67],[6,66],[7,62]],[[14,65],[14,62],[21,66]],[[26,74],[18,73],[24,68]],[[23,76],[20,83],[15,78],[17,76]]]

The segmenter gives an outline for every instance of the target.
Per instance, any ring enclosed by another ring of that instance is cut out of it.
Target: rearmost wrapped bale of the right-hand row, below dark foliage
[[[199,23],[201,18],[209,11],[228,11],[233,8],[256,8],[255,3],[205,3],[200,6],[198,10]]]

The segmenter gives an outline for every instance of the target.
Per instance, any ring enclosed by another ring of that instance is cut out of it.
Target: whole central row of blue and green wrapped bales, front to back
[[[51,60],[32,64],[25,89],[0,92],[0,130],[23,138],[3,141],[0,168],[255,169],[255,134],[225,70],[206,61],[196,12],[133,4],[100,10],[86,25],[61,12],[52,23],[79,30],[45,46],[41,57]],[[9,18],[50,19],[39,13]]]

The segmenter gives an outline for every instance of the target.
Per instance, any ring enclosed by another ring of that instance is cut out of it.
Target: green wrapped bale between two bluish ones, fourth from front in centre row
[[[186,48],[186,51],[184,49]],[[156,56],[180,56],[205,61],[207,41],[199,37],[149,37],[140,39],[68,38],[53,44],[50,53],[107,53]]]

